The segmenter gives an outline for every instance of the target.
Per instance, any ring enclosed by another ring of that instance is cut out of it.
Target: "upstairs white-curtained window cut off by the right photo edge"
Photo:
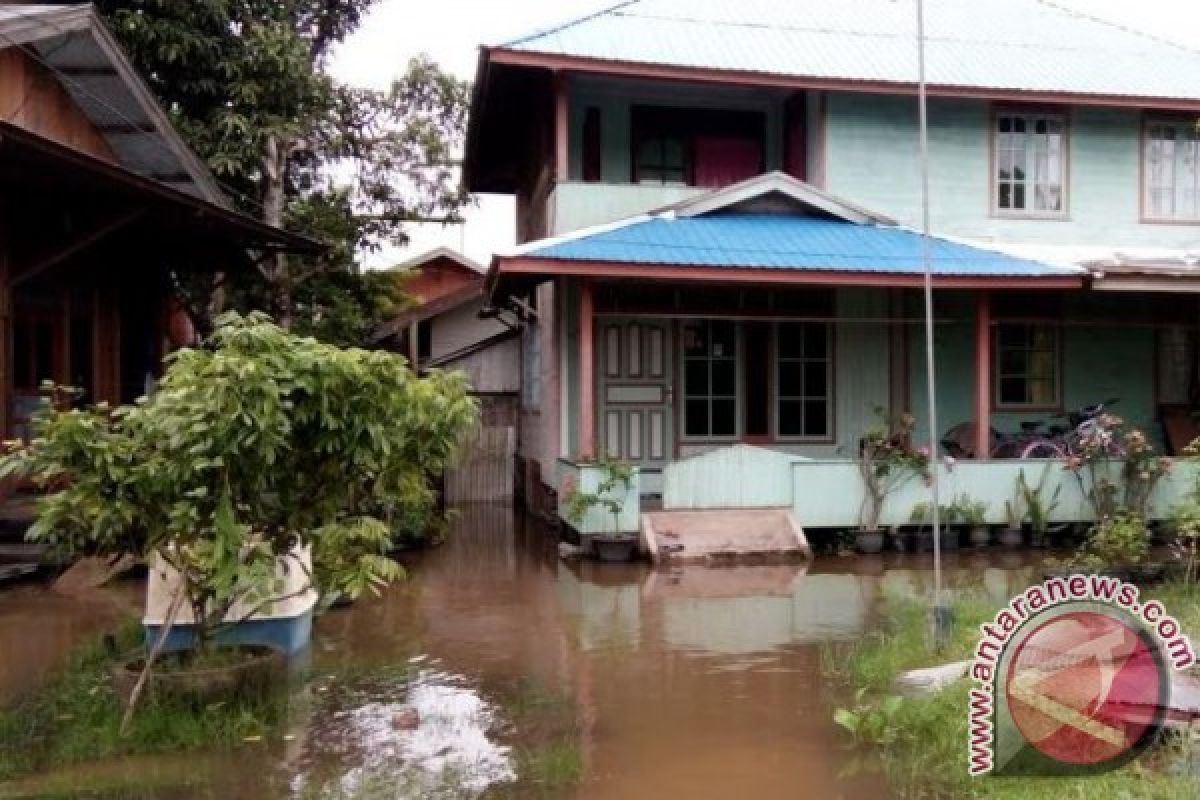
[[[1142,207],[1148,219],[1200,221],[1200,132],[1194,120],[1146,124]]]

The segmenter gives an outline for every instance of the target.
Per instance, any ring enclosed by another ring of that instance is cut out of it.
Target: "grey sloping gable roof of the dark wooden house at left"
[[[228,206],[92,6],[0,5],[0,49],[10,47],[54,74],[121,167]]]

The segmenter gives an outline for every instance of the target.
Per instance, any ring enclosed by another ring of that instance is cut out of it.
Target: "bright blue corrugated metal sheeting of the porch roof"
[[[937,237],[930,252],[938,276],[1072,277],[1085,272]],[[924,272],[922,237],[914,230],[782,213],[640,219],[590,235],[551,240],[544,247],[534,245],[522,254],[671,266]]]

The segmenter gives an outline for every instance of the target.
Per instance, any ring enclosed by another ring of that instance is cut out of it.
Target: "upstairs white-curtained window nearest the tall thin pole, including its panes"
[[[1063,216],[1067,210],[1067,121],[1062,114],[996,114],[992,211]]]

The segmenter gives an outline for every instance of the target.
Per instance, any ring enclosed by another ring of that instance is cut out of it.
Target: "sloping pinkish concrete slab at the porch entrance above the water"
[[[641,548],[655,564],[812,558],[809,541],[791,509],[643,513]]]

